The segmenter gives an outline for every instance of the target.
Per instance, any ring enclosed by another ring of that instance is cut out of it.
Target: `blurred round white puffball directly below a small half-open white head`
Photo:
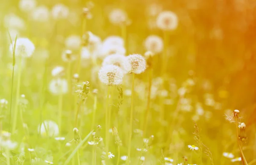
[[[49,83],[49,91],[54,94],[66,94],[68,91],[67,80],[65,79],[53,79]]]

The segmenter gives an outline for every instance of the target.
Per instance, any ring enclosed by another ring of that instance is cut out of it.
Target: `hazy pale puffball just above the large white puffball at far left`
[[[15,30],[24,30],[26,28],[24,20],[15,14],[8,14],[4,17],[4,26]]]

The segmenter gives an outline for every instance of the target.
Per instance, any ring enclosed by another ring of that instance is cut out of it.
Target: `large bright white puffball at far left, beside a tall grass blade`
[[[10,45],[10,51],[13,53],[15,41]],[[35,51],[34,44],[28,38],[17,38],[15,45],[15,56],[30,57]]]

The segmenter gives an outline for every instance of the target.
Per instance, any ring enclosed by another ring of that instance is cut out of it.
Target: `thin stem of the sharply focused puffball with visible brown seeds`
[[[134,78],[135,74],[132,74],[132,86],[131,86],[131,111],[130,111],[130,129],[129,129],[129,139],[128,139],[128,158],[126,160],[126,165],[130,164],[131,157],[131,136],[132,136],[132,121],[133,121],[133,103],[134,103]]]

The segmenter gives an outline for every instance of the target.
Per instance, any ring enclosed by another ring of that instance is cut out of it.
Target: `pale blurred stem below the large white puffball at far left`
[[[18,64],[18,80],[17,80],[17,89],[16,89],[16,103],[15,103],[15,108],[14,108],[14,119],[13,119],[13,125],[12,125],[12,134],[15,132],[16,125],[17,125],[17,114],[18,114],[18,107],[19,107],[19,97],[20,97],[20,79],[21,79],[21,63],[22,59],[19,59],[19,64]]]

